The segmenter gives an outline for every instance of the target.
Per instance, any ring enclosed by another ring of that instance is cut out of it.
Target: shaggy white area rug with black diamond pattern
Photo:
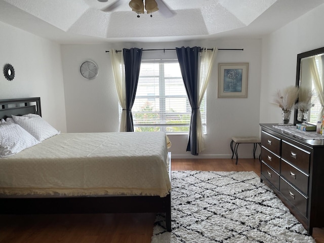
[[[152,243],[315,242],[254,172],[172,172],[172,232],[158,214]]]

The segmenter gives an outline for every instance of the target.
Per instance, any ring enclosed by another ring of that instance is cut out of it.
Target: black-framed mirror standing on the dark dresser
[[[297,55],[296,86],[311,91],[307,123],[316,125],[324,114],[324,47]],[[295,109],[294,125],[302,123],[298,109]]]

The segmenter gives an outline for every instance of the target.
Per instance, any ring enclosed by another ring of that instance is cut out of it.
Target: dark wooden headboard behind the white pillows
[[[0,100],[0,119],[11,115],[37,114],[42,116],[41,98],[23,98]]]

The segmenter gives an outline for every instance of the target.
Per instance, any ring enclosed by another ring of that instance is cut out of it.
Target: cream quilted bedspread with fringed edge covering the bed
[[[166,134],[59,134],[0,159],[0,193],[159,195],[171,190]]]

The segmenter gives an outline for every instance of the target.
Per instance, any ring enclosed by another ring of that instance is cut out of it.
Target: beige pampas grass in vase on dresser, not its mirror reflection
[[[297,86],[288,86],[285,89],[277,90],[274,102],[282,110],[289,111],[298,99],[299,88]]]

